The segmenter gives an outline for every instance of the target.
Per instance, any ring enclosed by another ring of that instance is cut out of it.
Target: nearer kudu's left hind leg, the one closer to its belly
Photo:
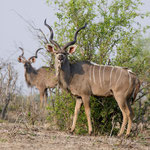
[[[125,130],[125,127],[127,124],[127,120],[128,120],[127,113],[126,113],[127,103],[126,103],[126,99],[123,98],[122,96],[115,96],[115,98],[116,98],[116,101],[117,101],[119,108],[123,115],[123,122],[121,125],[121,129],[119,131],[119,134],[118,134],[118,136],[121,136],[124,133],[124,130]]]

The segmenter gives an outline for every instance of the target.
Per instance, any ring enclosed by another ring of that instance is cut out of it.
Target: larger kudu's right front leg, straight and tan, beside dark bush
[[[92,134],[92,123],[91,123],[91,109],[90,109],[90,96],[82,97],[85,113],[88,121],[89,135]]]

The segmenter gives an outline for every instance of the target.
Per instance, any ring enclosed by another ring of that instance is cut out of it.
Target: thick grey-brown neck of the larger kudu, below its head
[[[62,64],[58,73],[56,74],[57,74],[60,86],[62,86],[63,89],[68,90],[71,77],[70,77],[70,63],[67,58]]]

